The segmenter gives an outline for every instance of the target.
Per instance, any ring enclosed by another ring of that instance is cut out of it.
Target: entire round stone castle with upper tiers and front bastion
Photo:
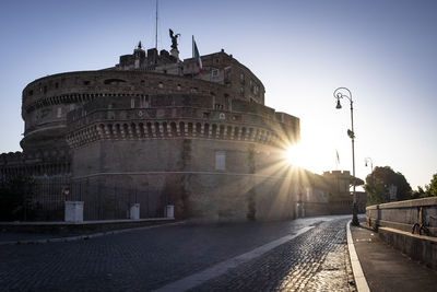
[[[153,190],[177,218],[290,218],[315,180],[327,202],[327,183],[302,179],[283,155],[299,119],[265,106],[262,82],[223,49],[201,62],[140,43],[113,68],[31,82],[23,152],[0,155],[1,180]]]

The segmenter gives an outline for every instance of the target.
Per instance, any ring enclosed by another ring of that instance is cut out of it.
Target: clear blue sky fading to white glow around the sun
[[[155,0],[2,0],[0,9],[0,152],[19,151],[21,93],[35,79],[111,67],[139,40],[154,46]],[[265,104],[300,118],[304,167],[351,170],[352,91],[356,173],[401,172],[413,188],[437,172],[437,1],[161,0],[158,49],[168,28],[191,35],[201,55],[224,48],[265,86]],[[336,166],[335,150],[340,154]]]

